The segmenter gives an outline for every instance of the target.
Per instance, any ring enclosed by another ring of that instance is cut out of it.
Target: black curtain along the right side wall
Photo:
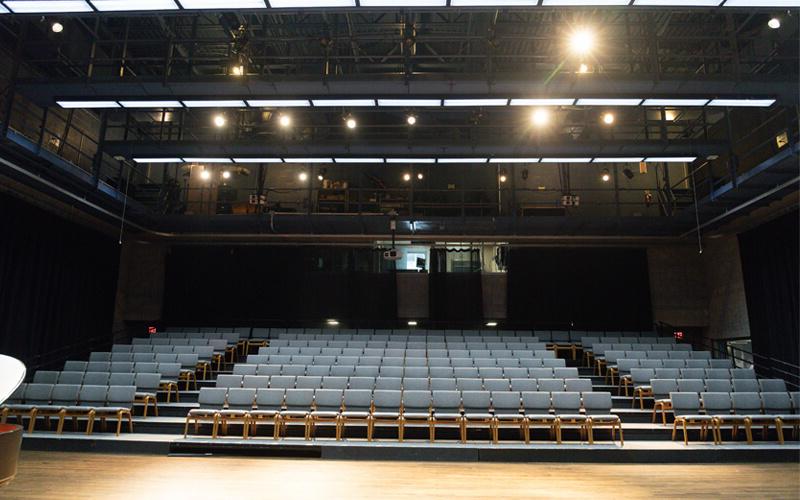
[[[739,235],[753,352],[800,364],[798,213]]]

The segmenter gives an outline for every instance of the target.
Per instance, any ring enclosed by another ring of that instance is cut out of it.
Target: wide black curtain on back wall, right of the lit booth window
[[[512,248],[508,315],[539,328],[650,330],[647,254],[639,248]]]

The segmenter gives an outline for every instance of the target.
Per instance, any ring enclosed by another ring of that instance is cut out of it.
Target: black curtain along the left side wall
[[[112,339],[119,245],[0,194],[0,352],[38,365]]]

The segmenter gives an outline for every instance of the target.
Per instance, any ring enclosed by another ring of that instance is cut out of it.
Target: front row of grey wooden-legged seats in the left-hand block
[[[95,418],[103,424],[107,418],[117,419],[117,436],[119,436],[123,418],[128,420],[129,432],[133,432],[133,404],[136,387],[132,385],[79,385],[79,384],[27,384],[15,391],[22,394],[22,399],[7,402],[2,409],[2,422],[9,416],[20,421],[28,418],[28,432],[33,432],[38,418],[44,418],[49,424],[50,418],[58,418],[58,434],[64,429],[67,417],[73,422],[87,419],[86,434],[93,432]]]

